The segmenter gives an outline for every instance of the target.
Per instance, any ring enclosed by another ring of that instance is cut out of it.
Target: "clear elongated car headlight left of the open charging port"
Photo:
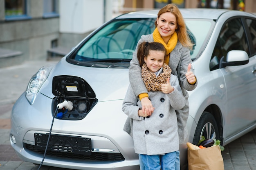
[[[33,105],[40,87],[43,85],[55,64],[45,65],[31,77],[27,85],[26,98],[30,105]]]

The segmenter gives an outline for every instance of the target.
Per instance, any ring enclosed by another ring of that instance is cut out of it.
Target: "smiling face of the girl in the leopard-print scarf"
[[[157,72],[164,64],[164,55],[162,51],[150,50],[148,57],[144,57],[148,71]]]

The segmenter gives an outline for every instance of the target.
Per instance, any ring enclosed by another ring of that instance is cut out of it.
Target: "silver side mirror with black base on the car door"
[[[220,59],[220,68],[227,66],[245,65],[249,63],[249,57],[247,52],[243,50],[231,50],[227,53],[227,57],[223,56]]]

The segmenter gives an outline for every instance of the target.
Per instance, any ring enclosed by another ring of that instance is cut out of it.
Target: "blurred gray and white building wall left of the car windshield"
[[[0,0],[0,68],[67,54],[111,19],[111,6],[112,0]]]

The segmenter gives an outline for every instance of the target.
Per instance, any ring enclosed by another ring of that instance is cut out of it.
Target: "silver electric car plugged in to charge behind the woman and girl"
[[[194,43],[186,142],[225,146],[256,127],[256,16],[221,9],[181,9]],[[56,65],[29,81],[11,113],[11,146],[23,160],[79,170],[136,170],[122,102],[132,53],[153,33],[158,10],[120,15],[85,37]],[[46,150],[46,152],[45,152]]]

